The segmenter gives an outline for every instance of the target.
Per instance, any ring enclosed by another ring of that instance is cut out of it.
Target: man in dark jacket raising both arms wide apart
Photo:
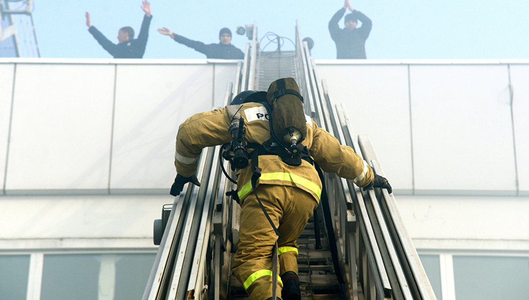
[[[145,45],[149,38],[149,25],[151,24],[151,4],[147,0],[143,0],[141,9],[145,12],[143,22],[141,23],[140,34],[138,39],[134,39],[134,30],[130,26],[123,27],[117,33],[118,44],[112,43],[108,40],[95,26],[90,22],[90,14],[86,12],[86,26],[88,31],[92,33],[97,42],[103,46],[103,49],[108,51],[114,58],[142,58],[145,53]]]

